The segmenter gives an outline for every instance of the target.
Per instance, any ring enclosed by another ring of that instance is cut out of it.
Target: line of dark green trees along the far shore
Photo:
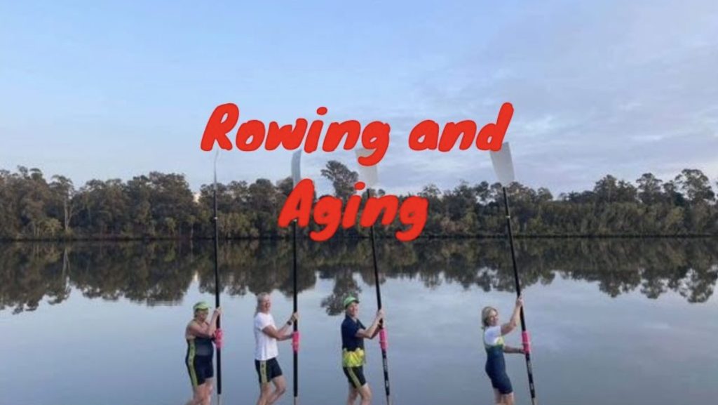
[[[355,192],[358,174],[342,163],[330,161],[322,176],[343,201]],[[289,235],[288,229],[277,225],[277,218],[292,188],[291,178],[218,183],[220,237]],[[511,184],[507,191],[518,236],[718,235],[716,196],[709,178],[697,169],[681,170],[668,181],[652,173],[635,183],[607,175],[591,190],[556,197],[547,188],[521,183]],[[425,186],[418,193],[429,200],[421,236],[503,235],[501,193],[499,183],[488,181],[462,181],[446,190]],[[202,185],[193,194],[182,174],[151,172],[128,181],[90,180],[78,188],[65,176],[47,179],[37,168],[0,170],[2,240],[200,239],[213,237],[213,226],[213,185]],[[312,222],[309,229],[317,227]],[[376,230],[379,236],[391,236],[400,227],[397,220]],[[357,225],[339,229],[336,236],[366,233]]]

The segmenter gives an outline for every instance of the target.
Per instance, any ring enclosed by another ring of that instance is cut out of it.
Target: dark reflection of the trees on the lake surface
[[[650,299],[676,291],[690,303],[707,301],[718,278],[712,239],[520,240],[521,283],[550,284],[559,276],[597,282],[611,297],[638,289]],[[339,314],[347,293],[360,293],[358,275],[372,286],[368,241],[314,243],[299,250],[299,289],[317,278],[332,280],[322,299]],[[426,288],[457,283],[484,291],[513,291],[513,270],[503,240],[424,240],[378,244],[383,278],[419,279]],[[211,243],[75,243],[0,245],[0,310],[19,314],[54,305],[75,289],[88,298],[177,304],[197,277],[200,291],[214,291]],[[292,248],[286,241],[228,242],[220,249],[223,292],[278,290],[292,293]],[[384,280],[382,280],[383,282]]]

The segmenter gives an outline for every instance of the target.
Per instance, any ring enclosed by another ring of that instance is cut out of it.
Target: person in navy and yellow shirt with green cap
[[[346,316],[342,322],[342,369],[349,381],[347,405],[353,405],[358,396],[361,396],[361,405],[369,405],[371,389],[364,378],[364,340],[378,335],[384,311],[379,309],[374,322],[367,328],[358,319],[358,299],[348,296],[344,300],[344,309]]]

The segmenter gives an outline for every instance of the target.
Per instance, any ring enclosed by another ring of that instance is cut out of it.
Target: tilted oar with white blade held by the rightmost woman
[[[521,283],[518,282],[518,268],[516,266],[516,252],[513,248],[513,232],[511,230],[511,214],[508,209],[508,196],[506,186],[514,181],[513,163],[511,162],[511,150],[508,142],[504,142],[501,150],[491,152],[491,163],[493,164],[496,177],[501,183],[503,190],[503,202],[506,211],[506,226],[508,227],[508,242],[511,246],[511,262],[513,263],[513,281],[516,283],[516,296],[521,296]],[[533,387],[533,368],[531,366],[531,340],[526,330],[526,320],[523,317],[523,306],[521,307],[521,342],[526,356],[526,371],[528,373],[528,388],[531,390],[531,404],[536,405],[536,389]]]

